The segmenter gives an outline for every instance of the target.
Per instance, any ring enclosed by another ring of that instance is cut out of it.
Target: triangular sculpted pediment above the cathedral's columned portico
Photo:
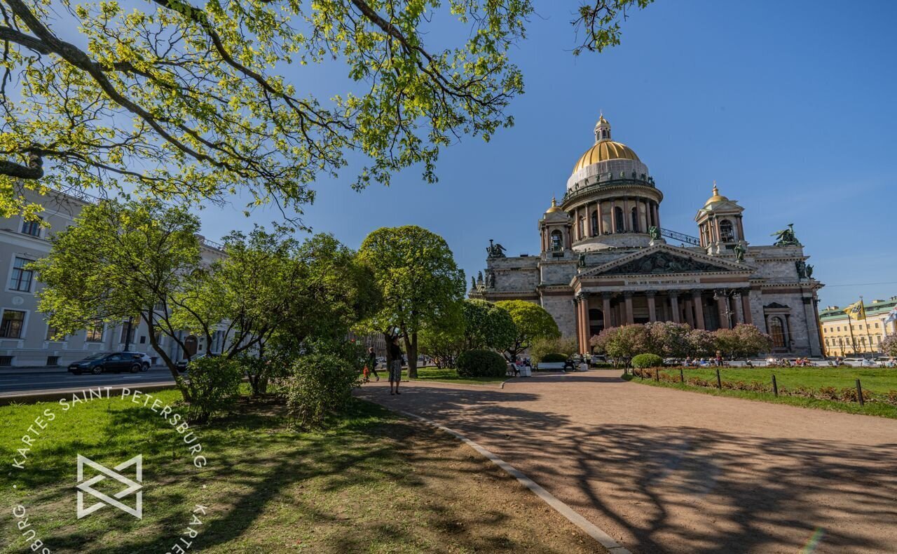
[[[726,259],[714,259],[681,248],[658,244],[645,251],[634,252],[597,268],[588,269],[580,273],[579,277],[707,272],[745,273],[748,271],[751,271],[751,268]]]

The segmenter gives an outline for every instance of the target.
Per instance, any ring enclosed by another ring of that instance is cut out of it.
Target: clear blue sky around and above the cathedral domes
[[[511,52],[527,87],[510,107],[514,128],[444,150],[436,185],[414,169],[361,193],[348,171],[322,180],[304,222],[353,248],[380,226],[422,225],[446,238],[469,282],[491,238],[509,255],[537,253],[536,222],[603,110],[664,192],[664,227],[697,234],[717,180],[745,207],[749,242],[795,224],[828,285],[823,305],[897,295],[897,3],[658,0],[631,13],[621,46],[573,57],[576,4],[536,2]],[[318,83],[344,85],[337,69]],[[204,210],[205,235],[274,217],[239,213]]]

